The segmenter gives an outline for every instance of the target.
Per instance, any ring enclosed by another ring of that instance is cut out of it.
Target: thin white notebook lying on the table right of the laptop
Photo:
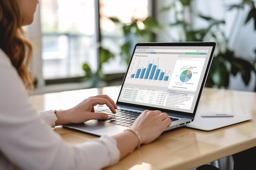
[[[248,121],[252,119],[250,117],[236,116],[236,115],[234,117],[201,117],[201,115],[213,115],[213,114],[220,114],[220,113],[198,112],[195,115],[195,120],[192,123],[186,125],[186,127],[209,131],[209,130],[222,128],[225,126],[230,126],[233,124],[238,124],[240,122]]]

